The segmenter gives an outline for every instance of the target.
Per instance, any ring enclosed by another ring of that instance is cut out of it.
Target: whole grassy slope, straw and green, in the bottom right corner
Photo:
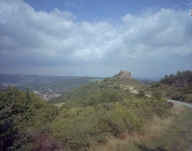
[[[154,116],[142,134],[121,138],[109,136],[106,144],[92,146],[90,151],[185,151],[192,146],[192,109],[175,104],[165,119]]]

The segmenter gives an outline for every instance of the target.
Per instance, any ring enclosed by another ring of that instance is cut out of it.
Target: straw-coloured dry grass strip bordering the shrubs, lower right
[[[159,140],[168,131],[175,118],[185,109],[178,104],[174,104],[171,109],[171,115],[167,118],[154,116],[152,121],[144,125],[142,134],[125,132],[120,138],[113,136],[108,137],[108,141],[102,145],[93,145],[90,151],[137,151],[140,150],[138,145],[149,146],[154,140]]]

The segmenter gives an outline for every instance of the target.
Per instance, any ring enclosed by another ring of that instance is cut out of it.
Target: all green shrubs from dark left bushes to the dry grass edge
[[[58,110],[28,89],[24,93],[8,87],[0,92],[0,147],[87,150],[93,144],[105,143],[109,135],[118,138],[123,132],[142,133],[143,125],[154,115],[163,118],[172,107],[164,99],[135,98],[127,90],[106,88],[69,101]]]

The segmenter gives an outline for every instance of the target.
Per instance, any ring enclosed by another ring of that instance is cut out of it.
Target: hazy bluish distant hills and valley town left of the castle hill
[[[78,76],[42,76],[42,75],[10,75],[0,74],[0,88],[16,86],[25,91],[34,92],[44,100],[58,97],[80,86],[101,81],[103,78]]]

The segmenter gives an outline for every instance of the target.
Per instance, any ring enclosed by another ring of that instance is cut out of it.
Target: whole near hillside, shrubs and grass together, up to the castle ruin
[[[0,90],[1,150],[187,150],[192,110],[131,93],[145,87],[125,75],[72,90],[60,104],[48,104],[28,89]]]

